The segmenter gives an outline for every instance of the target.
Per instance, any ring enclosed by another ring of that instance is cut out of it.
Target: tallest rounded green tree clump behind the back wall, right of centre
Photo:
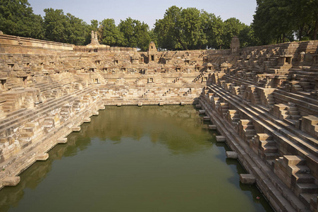
[[[171,6],[154,25],[158,45],[163,49],[229,48],[232,37],[243,30],[249,34],[244,36],[245,46],[256,43],[255,37],[250,35],[253,31],[237,18],[223,21],[197,8]]]

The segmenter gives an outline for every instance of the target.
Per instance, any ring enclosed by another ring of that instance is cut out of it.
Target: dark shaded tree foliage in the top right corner
[[[257,0],[252,23],[262,45],[293,41],[294,37],[317,39],[317,0]]]

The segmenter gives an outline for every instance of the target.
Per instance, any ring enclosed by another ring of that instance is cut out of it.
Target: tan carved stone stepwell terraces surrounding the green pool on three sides
[[[0,35],[0,188],[104,105],[198,104],[276,211],[317,211],[318,41],[238,42],[137,52]]]

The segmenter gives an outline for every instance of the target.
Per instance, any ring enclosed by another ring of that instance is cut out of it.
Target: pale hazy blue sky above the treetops
[[[153,28],[156,19],[164,17],[170,6],[182,8],[195,7],[204,9],[208,13],[220,16],[222,20],[238,18],[241,22],[250,25],[256,9],[256,0],[28,0],[35,14],[44,16],[44,8],[63,9],[64,13],[71,13],[86,23],[90,20],[114,18],[116,25],[130,17],[144,21]]]

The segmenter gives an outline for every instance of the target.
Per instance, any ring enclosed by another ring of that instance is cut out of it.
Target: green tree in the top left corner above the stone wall
[[[43,39],[42,21],[27,0],[0,0],[0,29],[4,33]]]

